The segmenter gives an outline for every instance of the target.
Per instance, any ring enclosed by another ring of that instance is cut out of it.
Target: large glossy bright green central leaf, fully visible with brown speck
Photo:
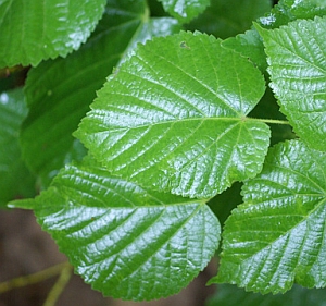
[[[261,171],[269,130],[246,114],[265,90],[247,59],[200,33],[139,46],[75,134],[112,173],[212,197]]]

